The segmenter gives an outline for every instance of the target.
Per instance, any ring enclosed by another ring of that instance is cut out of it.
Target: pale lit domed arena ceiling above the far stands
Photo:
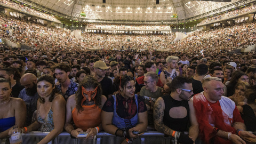
[[[26,1],[26,0],[25,0]],[[97,22],[102,20],[108,23],[112,21],[138,21],[154,22],[169,21],[166,23],[189,22],[189,19],[203,15],[211,11],[235,5],[241,0],[231,2],[209,2],[191,0],[29,0],[43,7],[47,7],[59,13],[69,15],[73,21]],[[252,0],[242,0],[244,3]],[[81,13],[85,13],[83,17]],[[177,14],[178,18],[171,18]],[[61,19],[61,18],[59,18]],[[71,21],[70,20],[70,21]],[[198,20],[198,19],[197,19]]]

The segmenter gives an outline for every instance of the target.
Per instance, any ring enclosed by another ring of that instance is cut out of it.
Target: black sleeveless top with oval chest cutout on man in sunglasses
[[[188,101],[182,100],[174,100],[170,94],[163,95],[162,97],[164,99],[164,118],[163,122],[166,126],[168,126],[170,129],[174,131],[179,132],[185,132],[188,131],[188,125],[189,125],[189,105]],[[187,109],[187,116],[184,118],[172,118],[169,115],[169,111],[173,107],[180,107],[183,106]]]

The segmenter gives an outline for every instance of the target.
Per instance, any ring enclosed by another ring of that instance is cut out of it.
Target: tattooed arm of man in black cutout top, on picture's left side
[[[157,131],[162,132],[167,135],[172,135],[173,130],[171,130],[168,126],[164,125],[164,100],[159,97],[154,105],[154,124]]]

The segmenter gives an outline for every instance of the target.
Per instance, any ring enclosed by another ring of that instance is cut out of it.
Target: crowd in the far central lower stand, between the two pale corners
[[[100,49],[164,49],[174,41],[171,34],[109,34],[109,33],[83,33],[83,39],[91,47]]]

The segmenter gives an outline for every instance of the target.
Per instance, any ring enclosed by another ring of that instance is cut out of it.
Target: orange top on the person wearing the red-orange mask
[[[94,105],[83,106],[84,110],[79,111],[76,108],[72,110],[72,117],[77,128],[87,131],[90,127],[99,126],[101,123],[101,109]]]

